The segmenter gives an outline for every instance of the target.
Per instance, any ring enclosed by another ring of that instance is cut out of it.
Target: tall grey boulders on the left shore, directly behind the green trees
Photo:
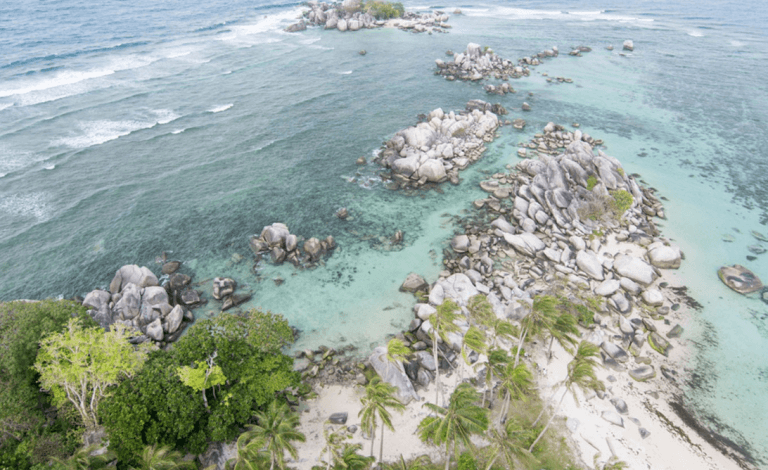
[[[137,332],[133,343],[148,340],[161,345],[181,336],[186,322],[194,321],[189,310],[200,303],[200,295],[189,288],[191,278],[177,273],[179,263],[163,265],[168,281],[159,285],[157,276],[147,267],[126,265],[115,273],[109,290],[93,290],[83,305],[88,314],[104,328],[122,324]]]

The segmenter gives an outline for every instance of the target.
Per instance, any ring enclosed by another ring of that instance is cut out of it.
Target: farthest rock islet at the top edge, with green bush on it
[[[430,13],[405,12],[400,18],[380,20],[363,11],[360,0],[344,0],[341,3],[311,1],[309,10],[304,12],[304,19],[292,24],[286,31],[296,32],[307,29],[307,25],[322,26],[325,29],[339,31],[359,31],[361,29],[381,28],[384,26],[399,28],[415,33],[447,32],[448,14],[441,11]],[[306,21],[305,21],[306,20]]]

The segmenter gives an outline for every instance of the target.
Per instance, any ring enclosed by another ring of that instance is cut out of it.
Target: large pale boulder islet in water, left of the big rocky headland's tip
[[[480,100],[464,111],[430,112],[427,122],[398,131],[379,151],[375,161],[390,170],[390,189],[417,188],[427,183],[459,182],[459,171],[479,160],[485,143],[495,138],[501,105]]]

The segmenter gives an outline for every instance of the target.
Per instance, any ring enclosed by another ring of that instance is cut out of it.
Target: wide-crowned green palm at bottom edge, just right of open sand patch
[[[476,405],[479,395],[471,385],[462,383],[451,394],[448,408],[432,403],[423,405],[435,416],[428,416],[419,423],[419,437],[436,446],[445,445],[445,470],[451,463],[451,450],[457,455],[462,446],[474,451],[470,437],[488,429],[488,410]]]

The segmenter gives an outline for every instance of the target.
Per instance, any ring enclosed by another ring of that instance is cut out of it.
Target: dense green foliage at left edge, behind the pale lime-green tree
[[[68,300],[0,303],[0,468],[26,469],[72,453],[82,423],[71,406],[56,408],[32,368],[38,344],[73,317],[95,322]]]

